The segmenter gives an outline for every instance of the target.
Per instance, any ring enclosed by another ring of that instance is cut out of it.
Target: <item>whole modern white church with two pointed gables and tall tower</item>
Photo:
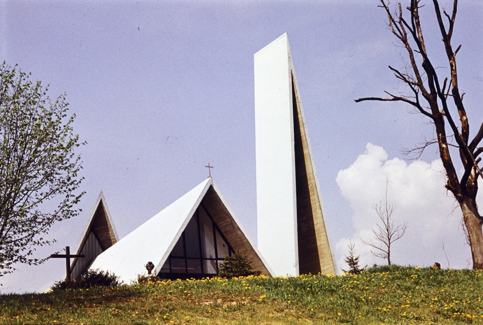
[[[154,265],[162,279],[216,276],[237,251],[267,276],[334,274],[287,34],[254,55],[258,248],[211,177],[119,239],[101,193],[71,277],[110,271],[125,283]]]

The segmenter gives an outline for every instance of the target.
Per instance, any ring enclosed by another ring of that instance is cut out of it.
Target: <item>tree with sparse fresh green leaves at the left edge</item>
[[[75,149],[75,115],[67,116],[65,95],[52,102],[48,87],[30,74],[0,65],[0,277],[15,263],[37,265],[33,254],[52,241],[50,226],[78,214],[84,195]]]

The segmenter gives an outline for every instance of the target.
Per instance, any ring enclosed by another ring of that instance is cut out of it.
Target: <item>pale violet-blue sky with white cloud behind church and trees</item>
[[[51,234],[57,242],[39,254],[76,249],[101,190],[123,237],[205,179],[208,162],[214,182],[256,241],[253,54],[288,32],[338,268],[345,267],[349,239],[362,263],[383,263],[360,238],[370,236],[371,205],[382,199],[386,179],[396,220],[408,223],[393,262],[467,267],[460,212],[443,188],[436,147],[420,161],[405,160],[400,152],[431,138],[431,125],[406,105],[354,103],[405,90],[387,69],[404,60],[377,5],[0,2],[0,59],[50,84],[52,98],[66,93],[77,116],[75,131],[88,143],[79,150],[87,192],[83,212],[56,224]],[[422,16],[427,45],[437,55],[441,37],[431,29],[429,4]],[[473,132],[482,116],[481,21],[483,3],[461,2],[454,44],[463,44],[460,87],[469,118],[477,122]],[[59,260],[19,266],[2,279],[0,290],[47,289],[64,276],[63,266]]]

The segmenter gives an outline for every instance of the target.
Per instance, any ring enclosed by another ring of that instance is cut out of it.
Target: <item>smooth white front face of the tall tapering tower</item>
[[[287,34],[254,55],[258,248],[279,276],[298,274],[292,66]]]

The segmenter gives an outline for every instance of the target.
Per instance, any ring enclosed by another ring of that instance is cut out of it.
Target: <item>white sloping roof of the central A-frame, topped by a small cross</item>
[[[229,227],[237,228],[238,236],[241,233],[241,237],[245,238],[242,239],[245,242],[244,247],[249,245],[252,252],[256,253],[257,260],[265,268],[265,263],[260,254],[253,248],[243,229],[239,227],[239,223],[218,195],[212,179],[208,178],[99,255],[90,269],[110,271],[127,284],[135,281],[138,275],[146,273],[145,265],[147,262],[152,262],[155,265],[155,272],[157,273],[166,262],[183,230],[207,193],[210,196],[209,200],[212,200],[209,202],[210,204],[214,202],[211,196],[215,194],[217,201],[213,205],[217,205],[216,209],[220,209],[222,206],[223,211],[228,212],[229,218],[225,219],[230,219],[228,220]],[[215,220],[215,222],[217,221]],[[225,227],[220,224],[218,226],[223,232]],[[229,237],[228,240],[230,240]],[[236,238],[233,237],[232,241],[236,241]],[[249,244],[247,245],[247,243]],[[233,248],[236,249],[236,246],[235,244]],[[244,253],[247,254],[247,252]],[[254,263],[254,269],[259,264]],[[264,273],[270,275],[270,271],[266,268],[265,270]]]

